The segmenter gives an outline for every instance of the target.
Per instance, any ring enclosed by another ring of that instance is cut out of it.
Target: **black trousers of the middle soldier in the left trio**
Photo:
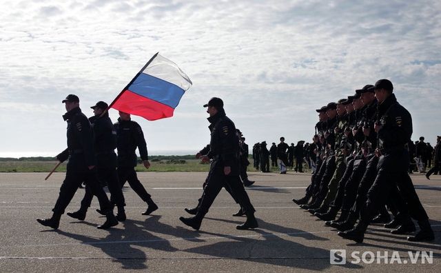
[[[107,183],[107,188],[111,194],[110,200],[112,205],[116,204],[117,207],[124,207],[124,195],[115,168],[99,168],[97,175],[101,184]],[[93,197],[94,194],[92,194],[90,187],[86,185],[84,198],[81,200],[81,208],[89,208]]]

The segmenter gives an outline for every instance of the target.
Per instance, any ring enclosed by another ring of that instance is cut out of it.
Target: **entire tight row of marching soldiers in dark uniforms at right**
[[[385,228],[394,228],[392,234],[415,232],[412,218],[420,232],[407,240],[433,240],[429,217],[408,174],[405,145],[411,139],[411,115],[396,100],[391,81],[365,85],[316,112],[319,121],[311,143],[316,145],[316,172],[305,196],[294,203],[358,243],[370,223],[385,223]]]

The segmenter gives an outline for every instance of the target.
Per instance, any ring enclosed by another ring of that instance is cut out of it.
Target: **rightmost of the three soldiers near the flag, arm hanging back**
[[[118,149],[118,172],[119,183],[123,188],[127,181],[136,194],[147,203],[147,210],[143,215],[149,215],[158,206],[153,202],[152,196],[145,190],[143,184],[136,176],[135,167],[138,161],[136,148],[139,150],[141,159],[146,169],[150,168],[149,156],[147,152],[147,143],[145,143],[144,133],[141,126],[130,119],[130,114],[119,112],[118,122],[114,124],[116,130],[116,147]],[[112,200],[113,201],[113,200]]]

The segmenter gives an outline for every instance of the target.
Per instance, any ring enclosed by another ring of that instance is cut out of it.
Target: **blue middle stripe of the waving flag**
[[[179,88],[173,83],[145,73],[141,73],[127,89],[147,99],[158,101],[172,108],[176,108],[185,92],[182,88]]]

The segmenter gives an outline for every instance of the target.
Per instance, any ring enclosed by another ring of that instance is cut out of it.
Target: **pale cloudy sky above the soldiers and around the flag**
[[[413,140],[441,135],[441,1],[3,1],[0,156],[66,147],[61,101],[87,116],[156,52],[192,80],[174,112],[138,121],[150,154],[209,142],[211,97],[247,143],[310,141],[315,109],[390,79]],[[116,121],[116,110],[110,110]],[[164,152],[161,152],[164,154]]]

